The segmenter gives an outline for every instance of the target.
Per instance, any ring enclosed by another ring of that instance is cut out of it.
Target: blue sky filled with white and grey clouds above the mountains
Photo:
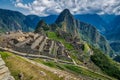
[[[120,0],[0,0],[0,8],[47,16],[69,9],[72,14],[120,14]]]

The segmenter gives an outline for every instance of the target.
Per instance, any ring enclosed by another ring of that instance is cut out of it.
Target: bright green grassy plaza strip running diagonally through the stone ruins
[[[73,50],[73,46],[72,44],[68,43],[65,41],[65,39],[61,38],[61,37],[58,37],[57,34],[55,32],[52,32],[52,31],[47,31],[47,36],[50,38],[50,39],[53,39],[53,40],[56,40],[56,41],[60,41],[61,43],[64,44],[64,46],[68,49],[68,50]]]

